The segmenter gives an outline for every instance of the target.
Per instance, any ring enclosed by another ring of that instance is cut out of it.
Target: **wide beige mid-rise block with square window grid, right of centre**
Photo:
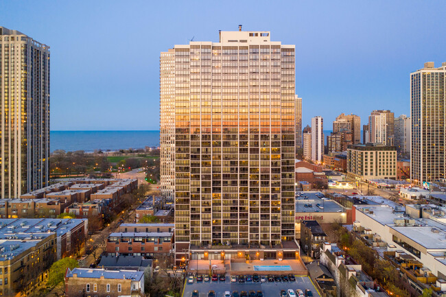
[[[397,150],[377,143],[350,145],[347,150],[347,176],[355,180],[395,180]]]

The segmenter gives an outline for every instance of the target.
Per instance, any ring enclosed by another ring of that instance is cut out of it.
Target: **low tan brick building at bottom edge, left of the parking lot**
[[[65,296],[145,296],[144,272],[137,270],[67,269]]]

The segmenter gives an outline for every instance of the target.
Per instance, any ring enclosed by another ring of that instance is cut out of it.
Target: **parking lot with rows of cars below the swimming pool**
[[[288,282],[272,282],[268,283],[253,283],[253,281],[247,283],[231,283],[229,276],[226,276],[226,281],[196,281],[196,278],[193,278],[193,283],[186,283],[183,297],[190,297],[192,291],[196,289],[200,294],[200,297],[207,297],[207,294],[210,290],[215,291],[215,297],[222,297],[225,291],[233,291],[238,292],[250,292],[250,291],[258,291],[261,290],[263,292],[263,296],[265,297],[279,297],[282,289],[285,291],[287,289],[293,289],[296,292],[296,289],[301,289],[305,292],[305,289],[311,289],[313,292],[313,296],[320,296],[316,291],[316,287],[314,287],[312,281],[309,279],[309,276],[296,276],[296,281],[288,281]]]

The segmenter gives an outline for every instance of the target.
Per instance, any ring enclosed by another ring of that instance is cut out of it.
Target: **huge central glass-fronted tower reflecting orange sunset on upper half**
[[[177,261],[294,240],[294,45],[240,29],[174,58]]]

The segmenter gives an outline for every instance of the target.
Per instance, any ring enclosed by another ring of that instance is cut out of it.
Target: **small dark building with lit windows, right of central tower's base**
[[[327,234],[316,220],[301,222],[301,248],[309,257],[319,258],[320,245],[327,241]]]

